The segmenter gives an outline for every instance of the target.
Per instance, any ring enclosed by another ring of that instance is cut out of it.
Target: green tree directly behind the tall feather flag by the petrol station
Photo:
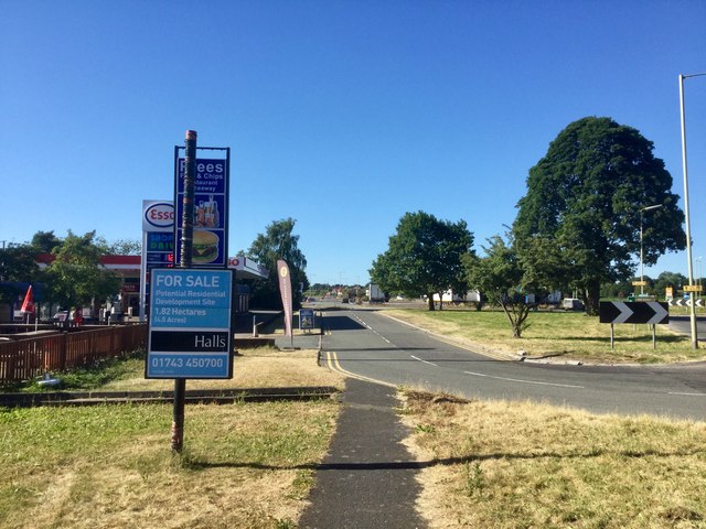
[[[267,280],[253,281],[250,285],[253,305],[259,309],[281,309],[277,277],[278,259],[284,259],[289,266],[295,307],[301,305],[301,291],[309,289],[306,273],[307,258],[299,249],[299,236],[293,234],[296,224],[297,220],[292,218],[275,220],[267,226],[264,234],[259,234],[255,238],[247,251],[248,257],[269,270]],[[301,285],[303,289],[300,289]]]

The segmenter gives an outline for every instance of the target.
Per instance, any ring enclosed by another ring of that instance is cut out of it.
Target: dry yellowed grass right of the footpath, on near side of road
[[[407,391],[430,528],[706,527],[706,423]]]

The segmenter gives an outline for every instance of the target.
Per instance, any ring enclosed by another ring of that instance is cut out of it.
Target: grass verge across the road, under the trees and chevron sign
[[[386,314],[469,345],[559,360],[593,363],[675,363],[703,360],[704,350],[693,349],[691,339],[657,325],[656,348],[648,325],[616,325],[614,349],[610,325],[582,313],[536,312],[522,338],[513,338],[506,316],[496,311],[385,310]]]

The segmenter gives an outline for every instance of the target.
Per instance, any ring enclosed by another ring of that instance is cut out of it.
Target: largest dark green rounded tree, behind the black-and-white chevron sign
[[[520,257],[547,289],[576,289],[597,313],[601,283],[632,276],[644,263],[685,247],[684,214],[672,176],[653,143],[610,118],[567,126],[530,170],[513,225]],[[652,205],[660,208],[643,213]]]

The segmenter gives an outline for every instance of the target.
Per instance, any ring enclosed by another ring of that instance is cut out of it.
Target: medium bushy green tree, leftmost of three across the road
[[[466,220],[450,223],[424,212],[406,213],[389,237],[388,249],[373,261],[371,279],[385,292],[427,295],[434,311],[435,293],[441,299],[448,289],[468,290],[461,257],[472,244]]]

